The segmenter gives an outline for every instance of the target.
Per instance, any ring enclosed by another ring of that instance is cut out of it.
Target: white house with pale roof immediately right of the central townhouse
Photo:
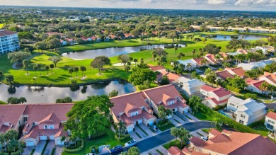
[[[198,79],[187,79],[185,77],[180,77],[178,84],[180,84],[183,93],[188,96],[200,93],[200,88],[205,85],[204,82]]]

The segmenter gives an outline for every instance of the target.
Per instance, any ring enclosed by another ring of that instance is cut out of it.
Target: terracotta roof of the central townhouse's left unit
[[[149,108],[149,105],[146,103],[144,96],[142,96],[142,93],[142,91],[139,91],[110,98],[110,101],[114,103],[113,108],[111,108],[114,115],[116,117],[120,116],[120,113],[128,112],[133,108],[142,109],[142,107],[144,107],[147,110],[151,110],[151,108]]]

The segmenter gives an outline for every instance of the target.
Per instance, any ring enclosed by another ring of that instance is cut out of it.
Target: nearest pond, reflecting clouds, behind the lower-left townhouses
[[[126,81],[104,81],[100,84],[76,87],[8,86],[0,84],[0,101],[9,97],[25,97],[28,103],[55,103],[57,98],[71,97],[73,101],[86,100],[87,96],[108,95],[113,90],[119,95],[132,93],[136,88]]]

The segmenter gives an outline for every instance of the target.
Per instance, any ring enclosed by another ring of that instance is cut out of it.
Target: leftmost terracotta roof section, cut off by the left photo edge
[[[19,118],[23,115],[26,105],[0,105],[0,120],[3,124],[5,123],[8,128],[2,125],[1,129],[3,132],[11,129],[11,126],[17,125]]]

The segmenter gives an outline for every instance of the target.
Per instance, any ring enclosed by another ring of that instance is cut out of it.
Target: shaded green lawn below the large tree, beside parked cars
[[[123,142],[120,142],[119,140],[115,139],[114,135],[115,133],[107,129],[106,130],[107,134],[105,137],[102,137],[100,139],[95,139],[95,140],[85,140],[84,141],[84,149],[81,151],[75,152],[75,153],[67,153],[67,152],[62,152],[62,155],[69,155],[69,154],[88,154],[90,153],[89,147],[96,145],[96,146],[101,146],[101,145],[107,145],[110,144],[111,147],[115,147],[116,145],[122,145],[124,146],[126,142],[128,142],[130,139],[126,139]]]

